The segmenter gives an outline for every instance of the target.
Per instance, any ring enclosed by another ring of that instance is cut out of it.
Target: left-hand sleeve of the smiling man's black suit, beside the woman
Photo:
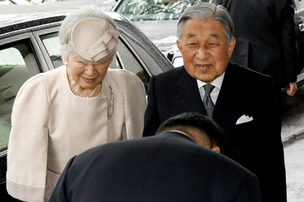
[[[160,125],[160,120],[157,111],[157,103],[155,99],[155,76],[150,78],[148,88],[148,105],[145,112],[143,137],[155,135],[157,128]]]

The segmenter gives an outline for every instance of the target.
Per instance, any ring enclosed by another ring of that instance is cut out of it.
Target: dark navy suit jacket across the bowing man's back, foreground
[[[250,171],[179,132],[94,147],[67,164],[50,202],[261,201]]]

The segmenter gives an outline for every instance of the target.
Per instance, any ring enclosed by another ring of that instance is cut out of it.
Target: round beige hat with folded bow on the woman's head
[[[105,20],[86,18],[74,26],[71,42],[80,57],[97,62],[112,56],[118,37],[118,31]]]

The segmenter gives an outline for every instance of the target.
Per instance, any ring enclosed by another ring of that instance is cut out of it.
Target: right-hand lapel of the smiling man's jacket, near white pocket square
[[[212,118],[225,131],[226,139],[240,117],[239,109],[243,105],[242,95],[238,89],[240,84],[237,83],[237,74],[233,68],[234,66],[229,63],[212,115]]]

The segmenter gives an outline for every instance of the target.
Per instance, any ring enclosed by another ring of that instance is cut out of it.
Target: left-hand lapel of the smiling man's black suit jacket
[[[196,79],[190,76],[185,68],[183,68],[177,87],[177,103],[175,106],[178,111],[181,113],[186,111],[197,111],[206,114]]]

